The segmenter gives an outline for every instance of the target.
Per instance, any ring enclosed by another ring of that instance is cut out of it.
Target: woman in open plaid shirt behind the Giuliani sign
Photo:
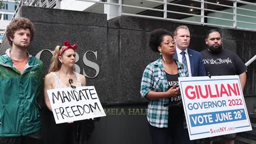
[[[164,29],[153,30],[149,46],[161,55],[144,70],[140,88],[141,97],[149,100],[147,119],[153,143],[192,143],[185,129],[178,86],[178,77],[188,77],[188,70],[173,58],[176,50],[172,34]]]

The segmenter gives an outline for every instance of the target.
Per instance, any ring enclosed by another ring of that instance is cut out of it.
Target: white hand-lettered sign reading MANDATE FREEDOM
[[[47,90],[56,124],[106,116],[94,86]]]

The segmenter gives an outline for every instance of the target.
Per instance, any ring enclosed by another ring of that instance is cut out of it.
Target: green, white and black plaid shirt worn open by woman
[[[175,60],[175,59],[174,59]],[[188,69],[175,60],[178,66],[179,77],[188,77]],[[149,63],[143,72],[141,79],[140,94],[142,98],[147,98],[149,91],[166,92],[168,90],[167,77],[162,65],[162,58]],[[169,103],[169,98],[149,99],[147,119],[152,126],[168,127],[168,109],[164,107],[165,103]],[[186,118],[184,117],[184,128],[187,128]]]

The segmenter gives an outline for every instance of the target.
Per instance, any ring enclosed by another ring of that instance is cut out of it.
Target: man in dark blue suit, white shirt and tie
[[[188,68],[189,76],[205,76],[202,56],[195,50],[188,49],[190,33],[187,26],[179,26],[174,31],[176,53],[174,59],[179,60]]]

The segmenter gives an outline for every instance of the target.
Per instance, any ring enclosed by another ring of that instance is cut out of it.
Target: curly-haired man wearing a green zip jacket
[[[36,98],[42,90],[43,62],[27,52],[34,31],[27,18],[13,19],[6,29],[11,49],[0,56],[0,144],[39,143]]]

